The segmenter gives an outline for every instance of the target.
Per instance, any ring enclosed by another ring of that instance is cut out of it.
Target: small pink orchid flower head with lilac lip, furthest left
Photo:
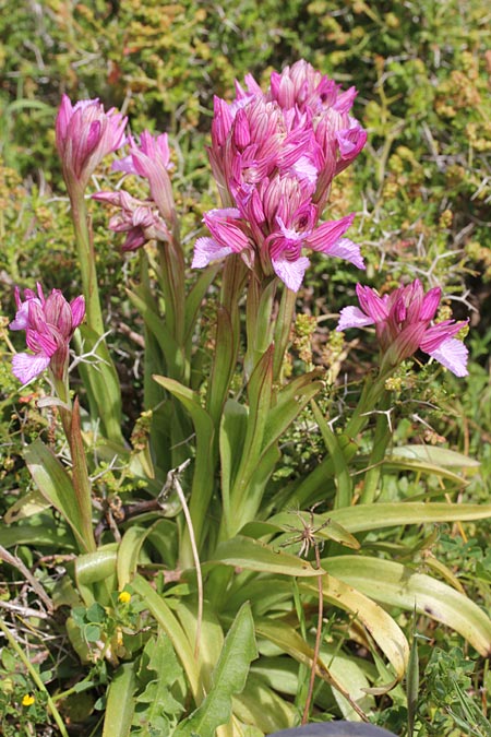
[[[57,379],[63,379],[68,369],[69,344],[75,329],[85,316],[85,300],[75,297],[69,304],[59,289],[45,298],[40,284],[37,293],[15,287],[17,311],[11,330],[25,330],[31,353],[17,353],[12,359],[13,375],[26,384],[48,367]]]

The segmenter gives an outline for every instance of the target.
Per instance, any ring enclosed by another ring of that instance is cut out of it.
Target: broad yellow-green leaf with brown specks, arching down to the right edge
[[[339,556],[324,569],[367,596],[388,606],[426,614],[462,634],[483,656],[491,655],[491,619],[477,604],[446,583],[392,560]]]

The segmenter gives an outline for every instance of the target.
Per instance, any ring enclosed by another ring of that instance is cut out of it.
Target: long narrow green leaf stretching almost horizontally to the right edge
[[[301,519],[309,524],[310,513],[299,512]],[[321,527],[331,520],[349,533],[382,530],[403,524],[431,524],[433,522],[465,522],[483,520],[491,516],[491,504],[447,504],[440,501],[419,502],[381,502],[358,504],[345,509],[336,509],[326,514],[314,514],[313,525]],[[279,512],[268,522],[274,525],[291,525],[291,514]]]

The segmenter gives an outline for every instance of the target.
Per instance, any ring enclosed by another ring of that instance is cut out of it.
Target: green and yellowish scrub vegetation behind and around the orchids
[[[0,330],[7,331],[13,316],[14,284],[32,287],[40,280],[46,288],[77,294],[73,236],[55,150],[53,120],[62,93],[71,99],[99,97],[106,107],[117,106],[137,131],[144,127],[168,131],[175,152],[172,182],[191,252],[203,212],[216,204],[205,154],[213,95],[231,97],[235,79],[241,81],[251,72],[265,80],[272,69],[306,58],[344,86],[354,84],[359,91],[355,114],[369,131],[369,143],[336,180],[331,213],[333,217],[347,209],[359,213],[350,235],[361,243],[368,262],[366,283],[384,289],[402,276],[418,276],[453,295],[457,318],[470,317],[468,380],[457,384],[445,377],[442,388],[431,378],[418,383],[407,378],[400,401],[431,407],[424,421],[415,409],[399,424],[397,439],[477,456],[481,473],[462,496],[472,502],[489,500],[491,56],[486,4],[481,0],[3,0],[1,10]],[[109,171],[101,177],[106,178],[116,181]],[[96,181],[95,187],[103,183]],[[141,325],[123,286],[134,275],[137,257],[121,257],[103,209],[93,209],[93,217],[98,273],[112,329],[109,342],[119,356],[129,433],[142,391],[141,350],[132,336]],[[306,362],[307,355],[308,361],[325,366],[333,376],[339,373],[343,346],[330,330],[334,328],[330,316],[352,302],[352,285],[339,262],[319,260],[309,273],[299,306],[304,314],[320,319],[320,329],[312,336],[306,333],[306,320],[297,321],[294,370],[296,361]],[[7,355],[8,346],[3,349]],[[373,346],[359,343],[356,358],[349,352],[344,356],[343,371],[352,378],[362,376],[372,360]],[[24,443],[39,430],[49,435],[52,428],[36,407],[36,388],[20,391],[7,359],[0,364],[0,513],[4,513],[20,489],[32,483],[21,460]],[[315,462],[320,442],[301,426],[290,433],[285,477]],[[396,483],[402,482],[385,480],[388,492]],[[409,477],[404,483],[408,495],[411,484],[417,487]],[[127,484],[130,489],[131,479]],[[442,527],[429,537],[415,530],[416,560],[428,562],[438,555],[468,595],[489,610],[489,523],[465,530]],[[393,532],[378,540],[381,546],[395,543]],[[23,544],[16,556],[43,578],[45,550]],[[63,564],[61,559],[58,564]],[[13,617],[15,602],[27,605],[28,601],[16,572],[3,562],[2,614]],[[117,611],[120,620],[105,626],[137,627],[137,610],[120,607]],[[81,627],[97,628],[104,614],[96,608],[80,617]],[[410,632],[411,621],[402,617],[402,623]],[[49,642],[41,621],[38,630],[21,628],[20,641],[29,643],[44,682],[59,679],[70,690],[74,668],[80,666],[62,628],[56,622],[50,627]],[[423,675],[418,734],[484,735],[491,687],[488,663],[477,658],[459,635],[448,637],[428,619],[418,622],[418,631]],[[22,705],[32,685],[14,657],[3,647],[0,732],[47,735],[43,690],[33,704]],[[94,666],[94,689],[62,702],[73,734],[86,734],[77,724],[104,708],[107,668],[104,663]],[[402,733],[404,709],[397,700],[388,708],[382,698],[380,722]]]

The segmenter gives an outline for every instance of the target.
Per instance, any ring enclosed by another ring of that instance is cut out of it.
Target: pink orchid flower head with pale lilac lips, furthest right
[[[454,337],[468,321],[444,320],[432,324],[442,296],[440,287],[424,294],[421,282],[415,280],[381,297],[375,289],[358,284],[357,295],[361,309],[345,307],[336,330],[375,325],[382,366],[398,366],[420,349],[455,376],[468,375],[468,350]]]

